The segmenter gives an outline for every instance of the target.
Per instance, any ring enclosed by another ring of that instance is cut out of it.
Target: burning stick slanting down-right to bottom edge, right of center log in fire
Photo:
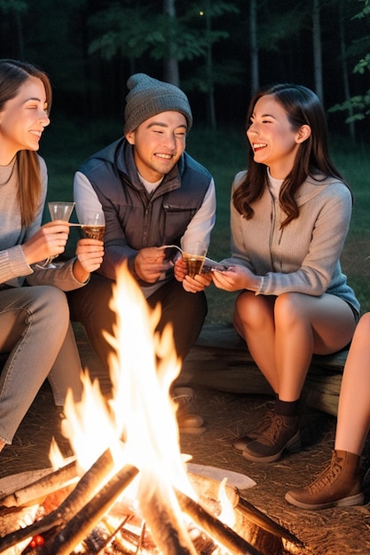
[[[205,511],[191,497],[186,496],[178,489],[175,489],[175,493],[182,511],[206,534],[213,537],[217,543],[223,545],[224,549],[230,551],[232,555],[263,555],[261,551],[257,551],[253,545],[234,532],[232,528],[229,528],[221,520],[216,519],[216,517]]]

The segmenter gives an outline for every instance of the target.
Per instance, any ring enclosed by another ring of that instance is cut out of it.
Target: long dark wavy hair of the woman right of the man
[[[338,178],[343,183],[345,181],[330,159],[327,141],[327,119],[316,94],[302,85],[295,84],[279,84],[258,91],[248,108],[247,129],[250,126],[251,116],[257,100],[265,95],[273,95],[275,100],[283,106],[293,130],[298,130],[303,125],[308,125],[311,128],[311,135],[299,145],[294,166],[284,179],[279,192],[280,207],[287,215],[284,222],[281,223],[281,227],[284,227],[299,215],[295,194],[309,175],[320,173],[324,176]],[[248,144],[248,172],[233,194],[234,207],[248,219],[252,218],[254,215],[252,205],[262,197],[266,186],[267,169],[264,164],[257,163],[254,160],[253,148]]]

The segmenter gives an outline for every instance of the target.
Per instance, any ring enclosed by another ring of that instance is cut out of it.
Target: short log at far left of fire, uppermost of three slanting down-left
[[[45,474],[39,480],[31,482],[27,486],[4,496],[0,499],[0,506],[26,507],[30,504],[37,504],[53,491],[64,488],[78,480],[77,467],[76,461],[73,461],[55,472]]]

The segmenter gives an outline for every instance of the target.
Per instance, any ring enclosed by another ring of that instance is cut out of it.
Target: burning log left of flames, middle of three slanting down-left
[[[102,482],[106,481],[107,476],[112,473],[113,469],[114,461],[110,449],[106,449],[91,466],[90,470],[83,474],[75,489],[60,504],[58,509],[47,514],[42,520],[37,520],[26,528],[20,528],[0,538],[0,553],[17,543],[23,542],[28,537],[43,534],[54,527],[66,525],[67,521],[73,518],[75,513],[79,512],[83,505],[88,503],[97,493]]]

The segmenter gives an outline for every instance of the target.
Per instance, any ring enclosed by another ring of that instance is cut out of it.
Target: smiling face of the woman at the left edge
[[[20,150],[37,151],[43,129],[49,125],[43,82],[30,76],[0,112],[0,164],[9,163]]]

